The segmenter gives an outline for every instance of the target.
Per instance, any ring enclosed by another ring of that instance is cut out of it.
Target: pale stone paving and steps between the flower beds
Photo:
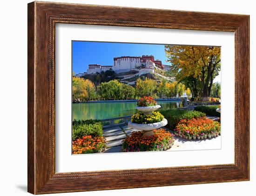
[[[208,117],[212,120],[217,120],[218,117]],[[125,133],[130,135],[132,132],[137,132],[139,130],[129,128],[128,126],[122,126]],[[122,152],[121,151],[121,142],[126,138],[125,133],[121,130],[120,127],[114,127],[103,130],[103,136],[107,141],[107,152]],[[170,131],[170,133],[173,133]],[[211,139],[184,139],[175,136],[174,145],[168,151],[184,151],[184,150],[212,150],[212,149],[221,149],[221,136]]]

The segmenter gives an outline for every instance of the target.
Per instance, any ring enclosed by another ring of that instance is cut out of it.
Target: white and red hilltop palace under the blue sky
[[[154,69],[158,67],[162,70],[168,69],[168,65],[163,66],[162,61],[155,60],[154,56],[152,55],[142,55],[141,57],[130,57],[130,56],[123,56],[123,57],[114,57],[113,65],[103,66],[98,64],[89,64],[88,65],[88,74],[94,74],[101,71],[106,70],[114,70],[116,73],[127,72],[132,69]]]

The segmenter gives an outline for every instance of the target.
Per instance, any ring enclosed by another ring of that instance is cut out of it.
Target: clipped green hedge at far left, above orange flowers
[[[73,140],[82,138],[85,135],[103,136],[102,123],[100,120],[74,120]]]

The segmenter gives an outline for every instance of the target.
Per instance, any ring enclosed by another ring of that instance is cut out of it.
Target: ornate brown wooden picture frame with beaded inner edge
[[[55,24],[235,32],[235,164],[55,172]],[[249,180],[249,16],[115,6],[28,4],[28,192],[33,194]]]

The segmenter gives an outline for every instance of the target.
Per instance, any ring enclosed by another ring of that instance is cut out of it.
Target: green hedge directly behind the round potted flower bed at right
[[[173,130],[175,126],[179,123],[179,121],[182,119],[193,119],[206,116],[202,112],[182,109],[170,109],[163,111],[162,114],[164,115],[164,118],[168,120],[168,127],[171,130]]]

